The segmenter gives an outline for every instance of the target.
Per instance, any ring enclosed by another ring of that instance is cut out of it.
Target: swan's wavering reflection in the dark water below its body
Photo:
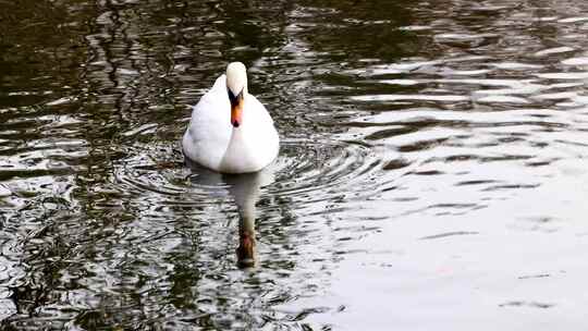
[[[221,174],[201,168],[186,160],[192,169],[191,181],[194,184],[208,186],[225,186],[238,209],[238,247],[236,249],[240,268],[254,267],[256,254],[256,206],[260,188],[273,182],[273,167],[269,166],[259,172],[243,174]]]

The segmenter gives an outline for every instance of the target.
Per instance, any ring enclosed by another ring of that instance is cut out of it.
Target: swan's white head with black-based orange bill
[[[231,101],[231,124],[238,127],[242,123],[243,100],[247,94],[247,70],[241,62],[226,66],[226,94]]]

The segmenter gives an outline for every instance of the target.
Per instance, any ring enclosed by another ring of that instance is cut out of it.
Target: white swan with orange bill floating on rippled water
[[[256,172],[278,156],[280,138],[266,107],[247,90],[247,70],[232,62],[194,106],[184,156],[221,173]]]

